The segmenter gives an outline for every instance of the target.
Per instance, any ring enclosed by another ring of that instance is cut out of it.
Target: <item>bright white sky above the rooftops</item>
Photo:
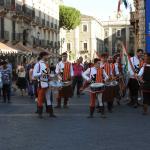
[[[63,0],[65,5],[75,7],[86,15],[98,17],[107,20],[114,11],[117,11],[119,0]],[[133,0],[128,0],[133,4]],[[129,9],[121,7],[125,14],[129,14]]]

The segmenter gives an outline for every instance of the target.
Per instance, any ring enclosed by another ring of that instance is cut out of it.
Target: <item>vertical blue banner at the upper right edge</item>
[[[146,51],[150,53],[150,0],[145,0]]]

